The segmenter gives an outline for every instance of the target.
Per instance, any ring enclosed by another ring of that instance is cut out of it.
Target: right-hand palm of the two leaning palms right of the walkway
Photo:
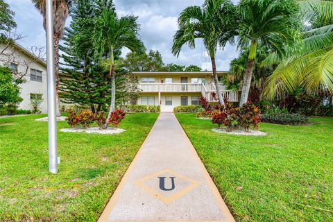
[[[269,46],[276,55],[282,56],[286,46],[296,40],[298,12],[298,4],[293,0],[242,0],[239,3],[237,47],[249,49],[239,105],[248,101],[257,45]]]

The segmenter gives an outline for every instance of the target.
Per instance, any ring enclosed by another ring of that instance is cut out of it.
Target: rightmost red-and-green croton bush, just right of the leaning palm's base
[[[244,130],[250,130],[250,127],[258,129],[258,124],[260,123],[260,110],[251,102],[245,103],[239,109],[239,126],[244,128]]]

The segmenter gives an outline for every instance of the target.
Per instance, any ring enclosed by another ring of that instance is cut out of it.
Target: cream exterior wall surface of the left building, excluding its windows
[[[0,51],[3,49],[3,45],[0,45]],[[13,50],[15,49],[7,49],[6,51],[8,51],[8,53],[11,53]],[[19,109],[31,110],[30,94],[42,94],[43,102],[40,105],[40,110],[42,110],[42,112],[47,112],[46,66],[42,65],[42,62],[32,59],[30,56],[27,56],[21,51],[15,50],[14,53],[15,61],[12,62],[18,65],[18,72],[25,73],[26,69],[28,68],[28,72],[26,76],[24,76],[25,83],[19,85],[19,87],[21,88],[20,96],[23,99],[23,101],[19,103]],[[10,67],[10,62],[3,62],[4,60],[4,58],[1,58],[0,65]],[[26,64],[27,62],[29,63],[28,66],[24,66],[23,64]],[[37,69],[39,71],[42,71],[42,83],[30,80],[31,69]]]

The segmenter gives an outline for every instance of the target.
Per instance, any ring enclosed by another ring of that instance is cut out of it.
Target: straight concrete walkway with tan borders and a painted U
[[[234,221],[173,113],[161,113],[99,221]]]

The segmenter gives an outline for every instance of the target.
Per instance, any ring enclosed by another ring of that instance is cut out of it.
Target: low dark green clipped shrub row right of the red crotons
[[[278,113],[278,114],[263,114],[262,122],[266,123],[278,123],[278,124],[290,124],[300,125],[307,123],[309,119],[307,116],[298,113]]]

